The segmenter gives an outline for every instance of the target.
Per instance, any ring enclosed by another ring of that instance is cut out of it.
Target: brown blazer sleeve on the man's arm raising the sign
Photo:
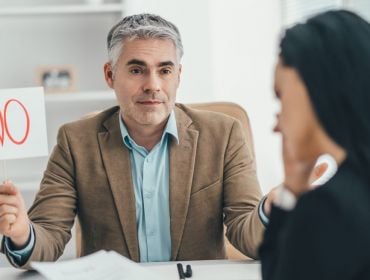
[[[35,245],[21,268],[31,261],[55,261],[71,238],[76,216],[77,192],[74,185],[74,161],[66,127],[58,132],[57,145],[49,158],[29,218],[35,232]]]

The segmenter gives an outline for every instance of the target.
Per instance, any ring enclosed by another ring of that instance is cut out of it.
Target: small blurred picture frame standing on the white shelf
[[[76,70],[72,65],[40,66],[37,69],[37,80],[45,93],[76,90]]]

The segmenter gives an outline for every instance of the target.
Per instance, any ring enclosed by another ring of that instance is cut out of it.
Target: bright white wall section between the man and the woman
[[[278,110],[272,89],[281,30],[279,1],[210,3],[214,96],[247,110],[258,177],[266,193],[282,180],[280,137],[272,133]]]

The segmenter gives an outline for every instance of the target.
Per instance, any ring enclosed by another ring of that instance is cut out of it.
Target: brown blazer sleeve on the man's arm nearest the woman
[[[235,121],[224,161],[224,222],[230,243],[245,255],[257,258],[265,228],[258,215],[262,193],[246,141],[239,121]]]

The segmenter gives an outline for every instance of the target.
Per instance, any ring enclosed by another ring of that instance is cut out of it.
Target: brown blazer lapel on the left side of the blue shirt
[[[119,111],[104,122],[107,131],[100,132],[98,139],[123,236],[131,259],[138,262],[135,192],[130,156],[122,141],[118,114]]]

